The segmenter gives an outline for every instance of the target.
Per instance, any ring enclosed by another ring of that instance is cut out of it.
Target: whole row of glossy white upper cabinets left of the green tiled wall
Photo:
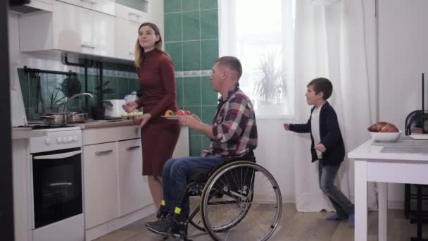
[[[60,0],[20,16],[20,51],[65,51],[134,60],[141,23],[163,35],[163,1]]]

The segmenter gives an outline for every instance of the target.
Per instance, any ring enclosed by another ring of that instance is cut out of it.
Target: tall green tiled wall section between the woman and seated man
[[[175,65],[177,100],[211,123],[218,94],[211,88],[210,69],[218,58],[218,1],[164,0],[165,50]],[[190,154],[199,156],[210,140],[190,130]]]

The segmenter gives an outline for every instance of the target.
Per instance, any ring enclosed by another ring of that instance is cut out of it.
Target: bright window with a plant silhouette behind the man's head
[[[237,56],[258,118],[294,113],[294,0],[220,0],[220,56]]]

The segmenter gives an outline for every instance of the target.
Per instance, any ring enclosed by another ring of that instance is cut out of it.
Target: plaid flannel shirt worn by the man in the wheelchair
[[[213,119],[212,142],[203,156],[245,156],[257,147],[257,126],[253,104],[234,85],[227,92],[227,99],[218,99],[217,113]]]

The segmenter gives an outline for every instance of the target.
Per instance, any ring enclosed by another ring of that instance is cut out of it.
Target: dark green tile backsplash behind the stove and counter
[[[99,70],[88,69],[88,89],[84,89],[84,69],[80,68],[77,78],[80,80],[81,92],[95,92],[95,87],[99,85]],[[67,100],[62,90],[65,75],[40,74],[40,93],[44,105],[37,101],[37,78],[24,73],[23,69],[18,69],[21,90],[23,93],[25,113],[27,119],[36,120],[43,112],[63,111],[63,106]],[[110,81],[107,87],[115,90],[113,94],[106,94],[103,99],[122,99],[125,94],[130,94],[133,90],[140,89],[137,74],[133,66],[123,66],[115,63],[105,63],[103,69],[103,82]],[[56,98],[54,98],[56,97]],[[53,103],[55,104],[53,106]],[[98,99],[89,99],[88,106],[98,104]],[[53,108],[52,108],[53,107]],[[68,104],[68,111],[88,112],[85,107],[84,97],[73,99]]]

